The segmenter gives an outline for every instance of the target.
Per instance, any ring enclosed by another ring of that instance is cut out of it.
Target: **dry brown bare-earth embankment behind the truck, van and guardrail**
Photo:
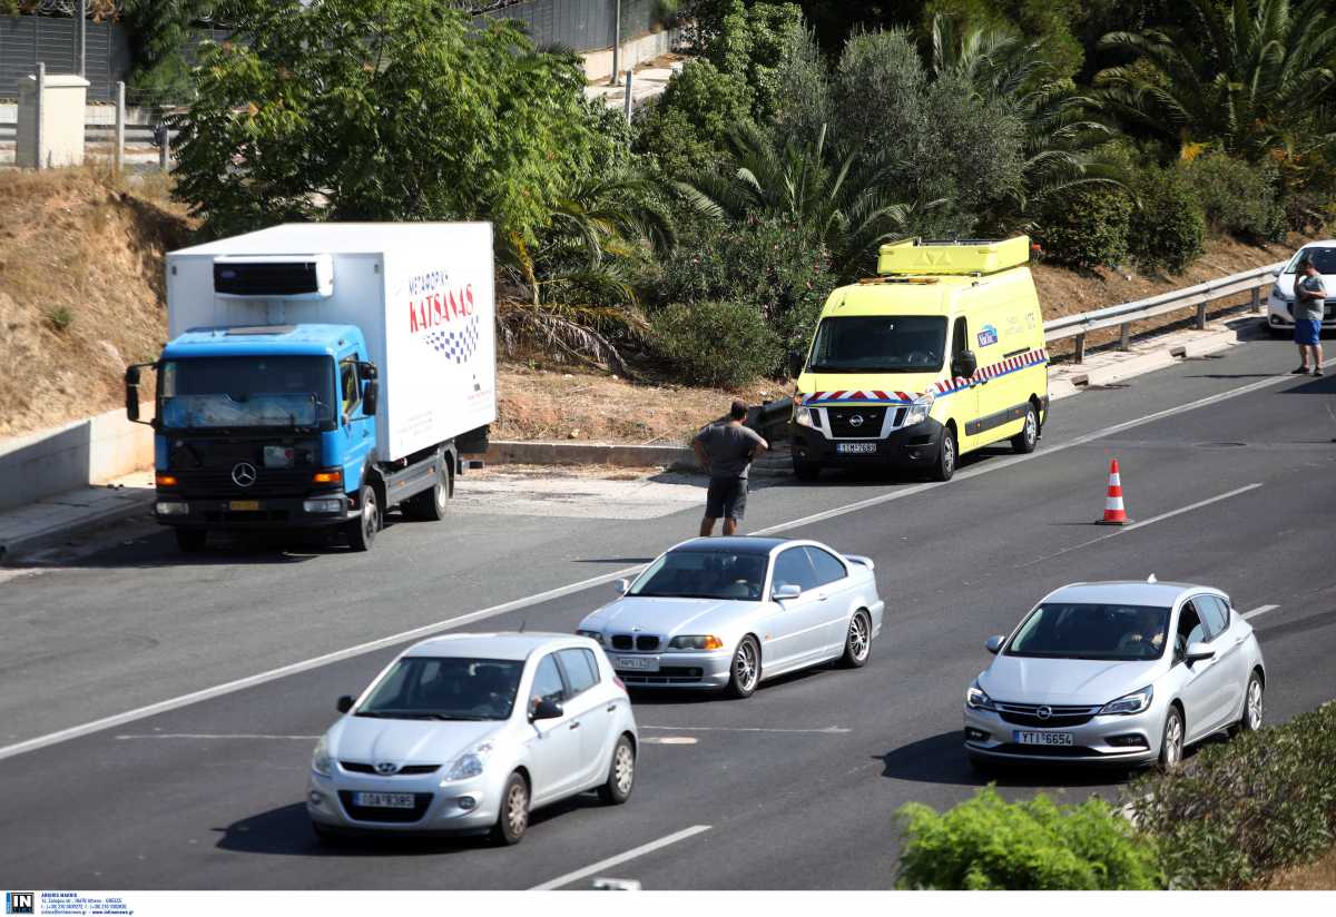
[[[160,184],[127,187],[96,170],[0,171],[0,344],[9,358],[9,371],[0,374],[7,408],[0,436],[122,403],[124,367],[152,359],[164,343],[163,255],[187,244],[191,228]],[[1221,239],[1177,278],[1042,263],[1034,276],[1045,316],[1055,318],[1268,264],[1291,251],[1293,244],[1259,248]],[[759,403],[790,390],[775,380],[739,392],[633,384],[544,358],[502,362],[498,387],[496,439],[637,444],[683,442],[735,396]]]

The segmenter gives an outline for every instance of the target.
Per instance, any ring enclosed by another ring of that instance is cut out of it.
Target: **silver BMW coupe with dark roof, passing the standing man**
[[[740,698],[786,671],[866,665],[884,610],[871,559],[783,538],[693,538],[617,591],[577,633],[627,685]]]

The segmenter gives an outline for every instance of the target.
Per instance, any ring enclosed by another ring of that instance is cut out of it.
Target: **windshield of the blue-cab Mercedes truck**
[[[164,427],[313,427],[333,418],[334,362],[325,356],[196,356],[158,378]]]

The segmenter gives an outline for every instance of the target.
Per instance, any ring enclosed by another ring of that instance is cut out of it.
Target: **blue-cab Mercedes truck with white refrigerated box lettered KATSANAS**
[[[496,420],[489,223],[277,226],[167,255],[155,518],[210,531],[441,519]]]

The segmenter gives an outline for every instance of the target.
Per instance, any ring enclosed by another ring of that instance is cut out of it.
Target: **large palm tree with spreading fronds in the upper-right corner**
[[[1331,0],[1190,0],[1201,28],[1113,32],[1102,49],[1130,63],[1097,77],[1102,108],[1177,144],[1259,160],[1303,158],[1332,143],[1336,12]]]

